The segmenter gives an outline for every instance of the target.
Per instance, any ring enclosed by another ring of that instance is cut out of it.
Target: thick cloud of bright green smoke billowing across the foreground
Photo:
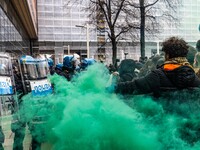
[[[54,93],[23,98],[22,117],[33,136],[55,150],[199,149],[198,91],[122,96],[105,86],[109,73],[90,66],[72,82],[50,77]],[[32,126],[31,122],[41,122]]]

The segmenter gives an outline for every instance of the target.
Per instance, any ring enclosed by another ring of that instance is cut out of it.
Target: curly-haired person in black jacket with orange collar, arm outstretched
[[[165,52],[163,66],[145,77],[129,82],[119,82],[116,92],[131,94],[138,91],[156,94],[163,89],[187,89],[200,86],[200,79],[186,59],[188,45],[183,39],[170,37],[163,42],[162,51]]]

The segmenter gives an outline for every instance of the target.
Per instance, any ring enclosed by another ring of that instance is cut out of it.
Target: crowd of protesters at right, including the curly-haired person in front
[[[197,42],[197,50],[194,51],[183,39],[170,37],[162,43],[162,53],[148,59],[142,64],[139,71],[136,68],[136,62],[130,64],[128,62],[130,60],[124,60],[129,67],[126,69],[126,66],[125,70],[121,71],[121,66],[119,66],[119,78],[115,92],[158,95],[167,89],[179,90],[199,87],[199,42]],[[123,63],[122,61],[122,66]],[[113,74],[118,75],[116,72]]]

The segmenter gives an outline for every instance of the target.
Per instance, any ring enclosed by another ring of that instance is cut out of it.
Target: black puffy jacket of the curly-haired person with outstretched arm
[[[170,71],[160,67],[143,78],[118,83],[116,92],[132,94],[138,91],[141,94],[147,94],[159,93],[167,89],[187,89],[199,86],[200,79],[189,66],[180,66]]]

